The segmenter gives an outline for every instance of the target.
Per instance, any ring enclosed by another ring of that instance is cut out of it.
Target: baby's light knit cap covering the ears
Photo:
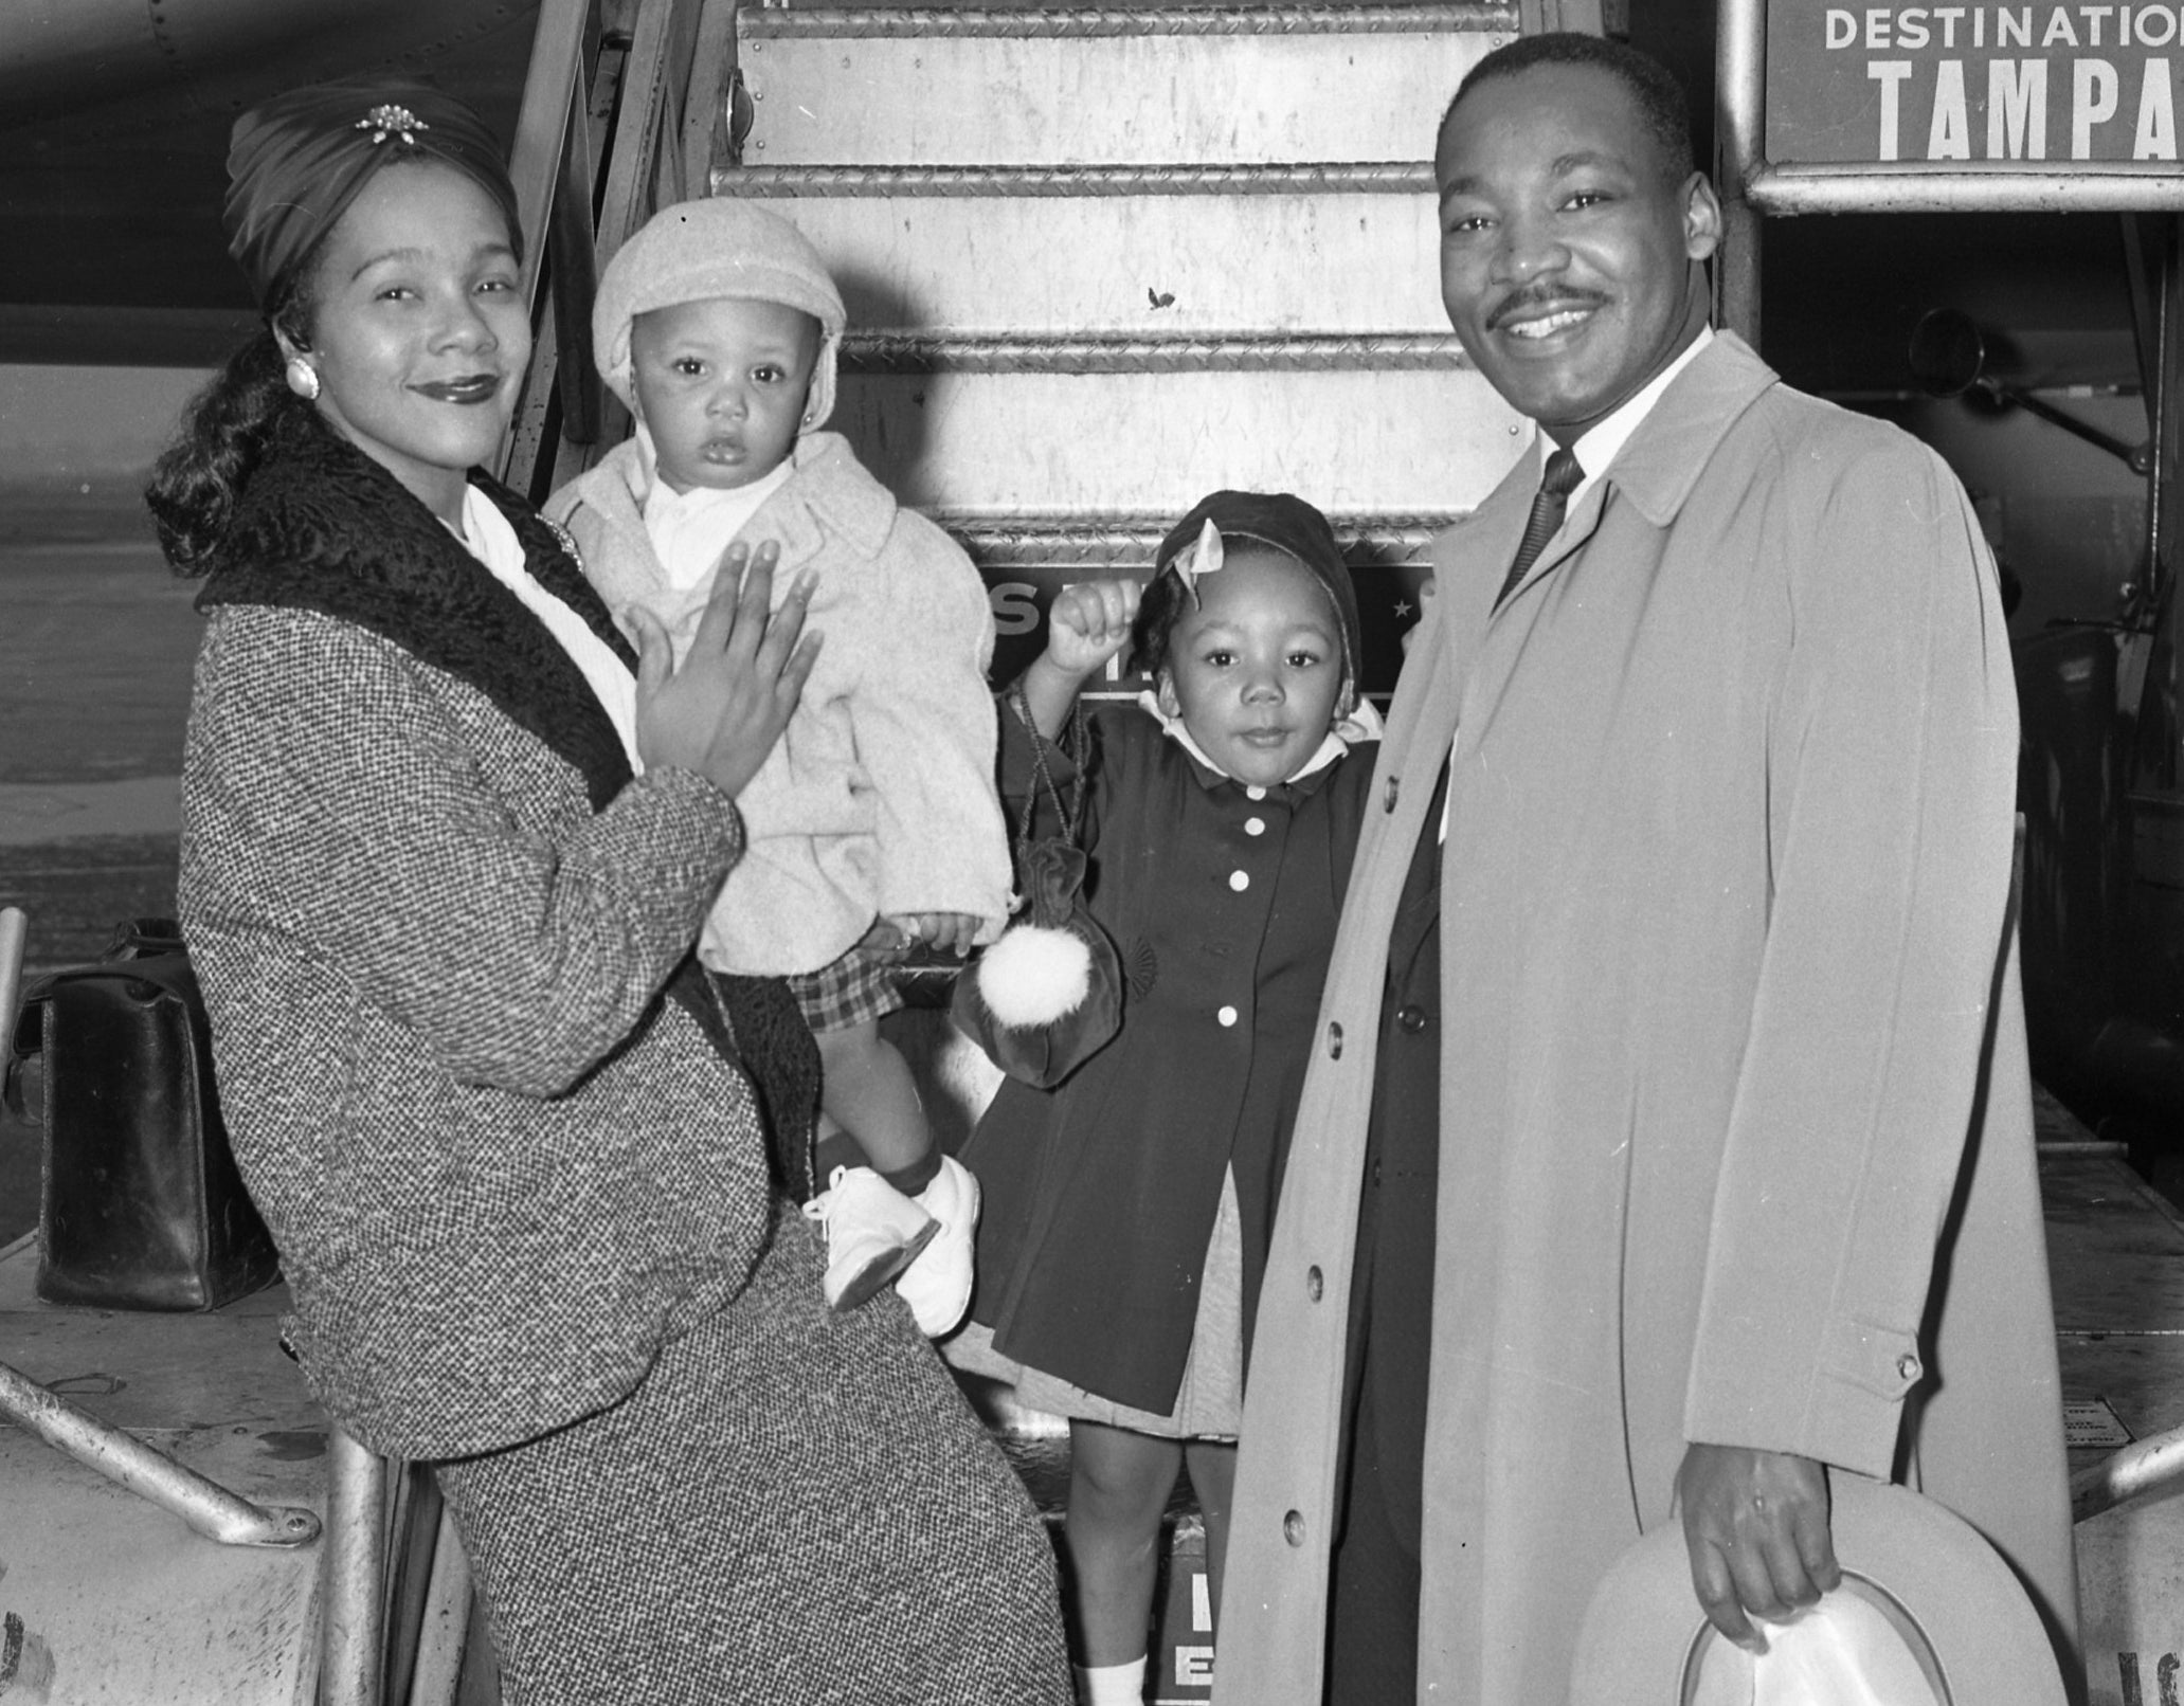
[[[775,212],[727,197],[662,208],[607,262],[592,304],[592,354],[607,389],[631,402],[629,328],[638,315],[708,297],[780,301],[819,321],[804,424],[823,426],[834,413],[834,352],[850,310],[804,232]]]

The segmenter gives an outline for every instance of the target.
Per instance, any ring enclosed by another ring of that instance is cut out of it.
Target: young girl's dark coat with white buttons
[[[1013,813],[1031,743],[1000,721]],[[965,1147],[985,1184],[972,1315],[1005,1356],[1168,1413],[1230,1166],[1247,1322],[1258,1295],[1372,747],[1254,799],[1147,712],[1099,708],[1085,751],[1048,760],[1064,793],[1072,760],[1090,786],[1085,902],[1120,955],[1123,1027],[1057,1090],[1002,1081]]]

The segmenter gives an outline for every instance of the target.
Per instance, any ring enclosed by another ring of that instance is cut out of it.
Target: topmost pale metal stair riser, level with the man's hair
[[[738,15],[753,100],[743,157],[1417,162],[1463,72],[1514,31],[1516,7],[1498,4],[756,9]]]

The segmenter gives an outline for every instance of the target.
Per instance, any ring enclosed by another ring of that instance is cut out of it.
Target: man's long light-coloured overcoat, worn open
[[[1452,741],[1420,1697],[1559,1699],[1688,1442],[1909,1474],[2066,1645],[2016,701],[1970,505],[1734,336],[1494,609],[1538,478],[1522,457],[1441,537],[1389,719],[1269,1258],[1216,1697],[1317,1697],[1374,1020]]]

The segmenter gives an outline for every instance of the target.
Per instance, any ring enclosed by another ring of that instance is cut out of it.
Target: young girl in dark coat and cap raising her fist
[[[1002,793],[1044,793],[1040,758],[1064,802],[1088,789],[1085,900],[1123,1018],[1055,1090],[1005,1081],[965,1147],[987,1206],[948,1354],[1070,1418],[1070,1623],[1096,1704],[1142,1693],[1186,1457],[1219,1599],[1247,1324],[1372,780],[1352,743],[1378,736],[1356,631],[1326,518],[1216,491],[1151,583],[1064,590],[1002,699]],[[1155,692],[1077,721],[1125,640]]]

